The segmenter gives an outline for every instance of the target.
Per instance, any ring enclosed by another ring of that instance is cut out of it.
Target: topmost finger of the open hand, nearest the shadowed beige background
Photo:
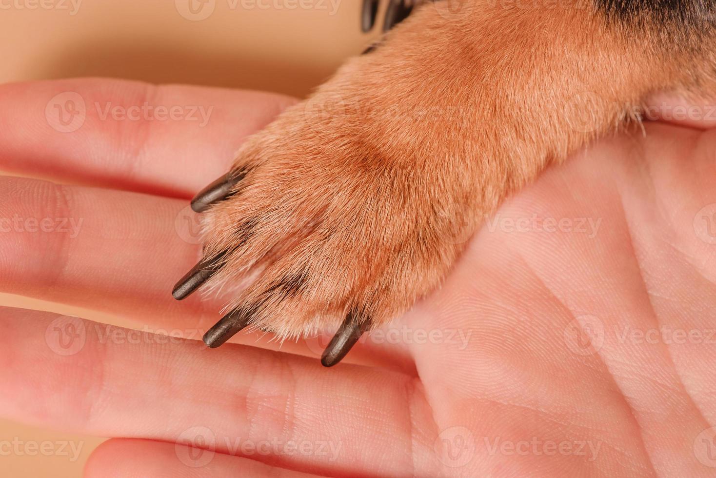
[[[0,170],[191,197],[295,100],[117,79],[0,86]]]

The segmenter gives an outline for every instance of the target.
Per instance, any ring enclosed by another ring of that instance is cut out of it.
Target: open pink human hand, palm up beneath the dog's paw
[[[58,132],[45,109],[67,91],[87,119]],[[143,98],[214,110],[205,127],[97,117],[95,103]],[[0,235],[0,291],[137,328],[205,330],[221,301],[170,295],[199,248],[177,233],[178,213],[290,102],[94,79],[0,87],[0,168],[72,184],[57,195],[49,182],[2,177],[0,218],[84,218],[74,238]],[[445,286],[392,324],[397,341],[369,337],[335,369],[321,368],[316,339],[276,351],[241,334],[244,344],[208,350],[151,333],[130,343],[126,329],[89,321],[74,323],[84,346],[62,355],[57,314],[4,308],[0,410],[113,437],[88,477],[713,476],[715,123],[652,122],[646,137],[601,140],[552,168],[483,225]],[[196,426],[216,446],[188,467]],[[242,452],[236,440],[279,446]],[[281,452],[289,441],[308,451]]]

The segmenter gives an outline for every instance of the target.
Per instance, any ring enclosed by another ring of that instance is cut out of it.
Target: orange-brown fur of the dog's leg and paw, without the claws
[[[539,3],[425,5],[251,137],[238,194],[205,214],[207,255],[241,245],[212,290],[260,304],[252,325],[282,338],[351,310],[385,323],[505,196],[649,94],[715,83],[710,36],[665,47],[587,2]]]

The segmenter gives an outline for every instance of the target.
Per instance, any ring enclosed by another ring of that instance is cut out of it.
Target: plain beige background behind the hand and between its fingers
[[[360,31],[361,0],[188,1],[0,0],[0,82],[103,76],[303,96],[378,33]],[[0,305],[127,325],[7,294]],[[0,442],[15,439],[71,440],[81,454],[0,454],[0,477],[80,477],[102,442],[0,421]]]

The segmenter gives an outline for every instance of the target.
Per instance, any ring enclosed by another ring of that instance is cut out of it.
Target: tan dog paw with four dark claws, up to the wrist
[[[405,147],[408,132],[372,130],[343,100],[326,114],[336,104],[326,89],[291,107],[193,200],[204,259],[174,296],[206,282],[229,298],[208,346],[246,327],[297,338],[342,321],[322,360],[336,364],[435,288],[469,237],[455,217],[470,210],[459,169]]]

